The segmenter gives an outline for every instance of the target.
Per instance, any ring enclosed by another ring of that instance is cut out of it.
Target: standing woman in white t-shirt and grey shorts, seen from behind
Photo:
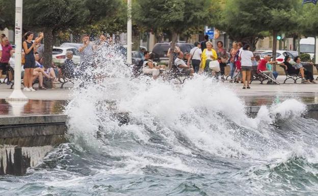
[[[242,76],[243,76],[243,89],[250,89],[250,80],[251,80],[251,69],[252,61],[254,60],[253,52],[250,51],[250,45],[245,44],[243,50],[240,52],[239,57],[241,58],[242,65]],[[246,85],[247,80],[247,85]]]

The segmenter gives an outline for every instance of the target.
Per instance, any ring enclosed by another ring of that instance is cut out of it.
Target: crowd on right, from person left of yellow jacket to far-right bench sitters
[[[195,42],[195,47],[192,48],[189,54],[188,66],[192,64],[196,73],[205,72],[207,75],[211,75],[214,72],[218,72],[217,78],[221,75],[221,78],[224,79],[224,68],[228,62],[230,66],[230,82],[239,83],[241,81],[243,89],[250,89],[249,83],[253,66],[255,66],[256,74],[266,74],[270,77],[268,79],[269,85],[275,84],[274,81],[278,73],[273,71],[273,66],[278,63],[271,61],[272,57],[270,55],[265,55],[261,59],[258,55],[254,56],[253,52],[250,51],[249,44],[243,45],[242,42],[233,42],[228,58],[222,41],[218,41],[217,48],[214,49],[213,44],[208,41],[208,36],[205,36],[204,39],[201,43]],[[211,62],[213,61],[219,62],[220,71],[211,69]],[[285,66],[284,68],[289,74],[300,74],[302,83],[316,83],[312,73],[303,67],[300,57],[294,59],[294,65],[288,63],[289,61],[290,57],[286,56],[285,61],[278,65]]]

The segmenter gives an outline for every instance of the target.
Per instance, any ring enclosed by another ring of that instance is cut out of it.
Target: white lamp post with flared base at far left
[[[28,100],[21,91],[22,0],[15,0],[15,66],[14,90],[7,100]]]

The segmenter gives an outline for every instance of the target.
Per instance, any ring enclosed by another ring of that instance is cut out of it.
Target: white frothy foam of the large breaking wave
[[[130,79],[124,60],[116,55],[114,58],[104,59],[98,68],[101,75],[106,75],[112,68],[110,77],[89,83],[85,89],[75,88],[66,114],[69,116],[69,133],[81,138],[81,145],[85,142],[103,148],[109,154],[126,157],[124,163],[130,172],[137,172],[137,168],[147,164],[193,171],[175,154],[160,156],[159,152],[151,150],[155,148],[151,145],[158,145],[152,143],[153,137],[173,149],[174,153],[181,151],[188,156],[193,150],[223,157],[262,156],[253,149],[258,147],[253,146],[257,143],[246,144],[242,140],[246,137],[241,133],[254,132],[247,136],[251,140],[255,135],[270,140],[273,136],[267,127],[278,116],[285,119],[300,117],[306,108],[295,99],[286,100],[272,107],[263,106],[256,118],[249,118],[243,101],[211,78],[196,75],[184,85],[173,85],[161,78]],[[116,70],[120,70],[118,74]],[[115,101],[117,110],[129,114],[130,122],[119,126],[109,113],[106,101]],[[260,131],[260,127],[264,127],[264,131]],[[106,135],[105,138],[96,139],[97,131]],[[116,140],[122,142],[122,149],[120,146],[103,146]],[[140,154],[127,152],[124,145],[136,141],[139,145],[151,147],[143,148],[146,152]]]

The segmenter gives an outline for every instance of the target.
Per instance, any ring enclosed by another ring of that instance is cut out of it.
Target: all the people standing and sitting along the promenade
[[[22,65],[24,70],[23,76],[23,91],[35,91],[33,89],[33,82],[38,78],[39,80],[39,90],[44,90],[43,77],[49,78],[54,82],[58,82],[57,75],[59,69],[55,67],[45,68],[43,66],[43,46],[41,45],[41,40],[43,39],[43,33],[39,34],[39,37],[34,38],[32,32],[27,32],[24,34],[23,41],[23,52],[22,52]],[[249,83],[251,80],[251,70],[253,66],[257,66],[257,73],[263,73],[268,75],[270,78],[276,79],[278,73],[273,71],[273,65],[277,62],[271,61],[271,57],[266,55],[263,59],[259,56],[255,56],[253,52],[250,51],[250,45],[243,44],[241,42],[233,42],[232,48],[227,54],[226,49],[223,46],[222,41],[217,42],[217,48],[213,47],[213,43],[208,41],[208,36],[205,36],[205,40],[202,42],[195,42],[195,47],[190,50],[190,52],[183,53],[179,47],[175,46],[174,51],[167,53],[167,57],[173,55],[173,66],[177,68],[176,70],[182,74],[192,76],[194,73],[206,73],[208,76],[215,75],[216,78],[221,76],[224,80],[225,67],[227,63],[230,66],[230,82],[239,83],[243,82],[243,89],[250,89]],[[95,44],[90,43],[90,36],[84,35],[82,38],[83,46],[78,50],[80,51],[81,63],[78,71],[85,72],[87,68],[93,66],[93,56],[94,51],[101,48],[100,46],[104,44],[112,43],[110,36],[100,35],[99,39]],[[42,47],[41,47],[42,46]],[[42,48],[42,49],[41,49]],[[39,50],[39,51],[38,51]],[[12,57],[14,50],[9,43],[8,38],[2,35],[0,44],[0,78],[3,72],[8,73],[8,84],[12,80],[12,72],[10,70],[9,60]],[[165,65],[157,65],[154,62],[154,53],[149,51],[143,51],[143,61],[142,72],[145,74],[151,74],[153,78],[157,78],[165,69]],[[72,51],[67,51],[66,61],[62,68],[68,78],[75,76],[75,66],[72,61],[73,53]],[[315,83],[313,75],[311,72],[304,69],[299,57],[295,58],[295,64],[289,63],[290,57],[286,57],[285,61],[281,64],[288,73],[290,74],[300,74],[302,76],[302,83]],[[218,69],[213,68],[213,63],[217,62]],[[81,74],[78,74],[81,75]],[[83,74],[82,74],[83,75]],[[273,83],[274,80],[269,79],[268,84]]]

